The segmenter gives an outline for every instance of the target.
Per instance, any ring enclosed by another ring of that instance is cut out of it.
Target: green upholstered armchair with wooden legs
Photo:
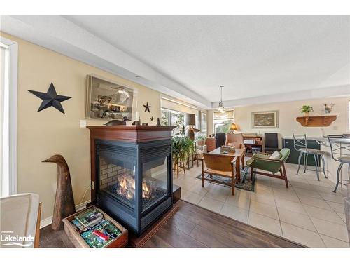
[[[246,165],[251,168],[251,180],[253,179],[253,173],[255,173],[255,175],[266,175],[284,180],[286,182],[286,187],[288,188],[287,173],[284,163],[290,154],[290,149],[283,148],[279,151],[279,154],[281,155],[279,159],[269,159],[271,156],[270,154],[253,154],[251,159],[246,161]],[[269,173],[257,171],[256,169],[267,171]],[[281,173],[281,175],[276,175],[276,173]]]

